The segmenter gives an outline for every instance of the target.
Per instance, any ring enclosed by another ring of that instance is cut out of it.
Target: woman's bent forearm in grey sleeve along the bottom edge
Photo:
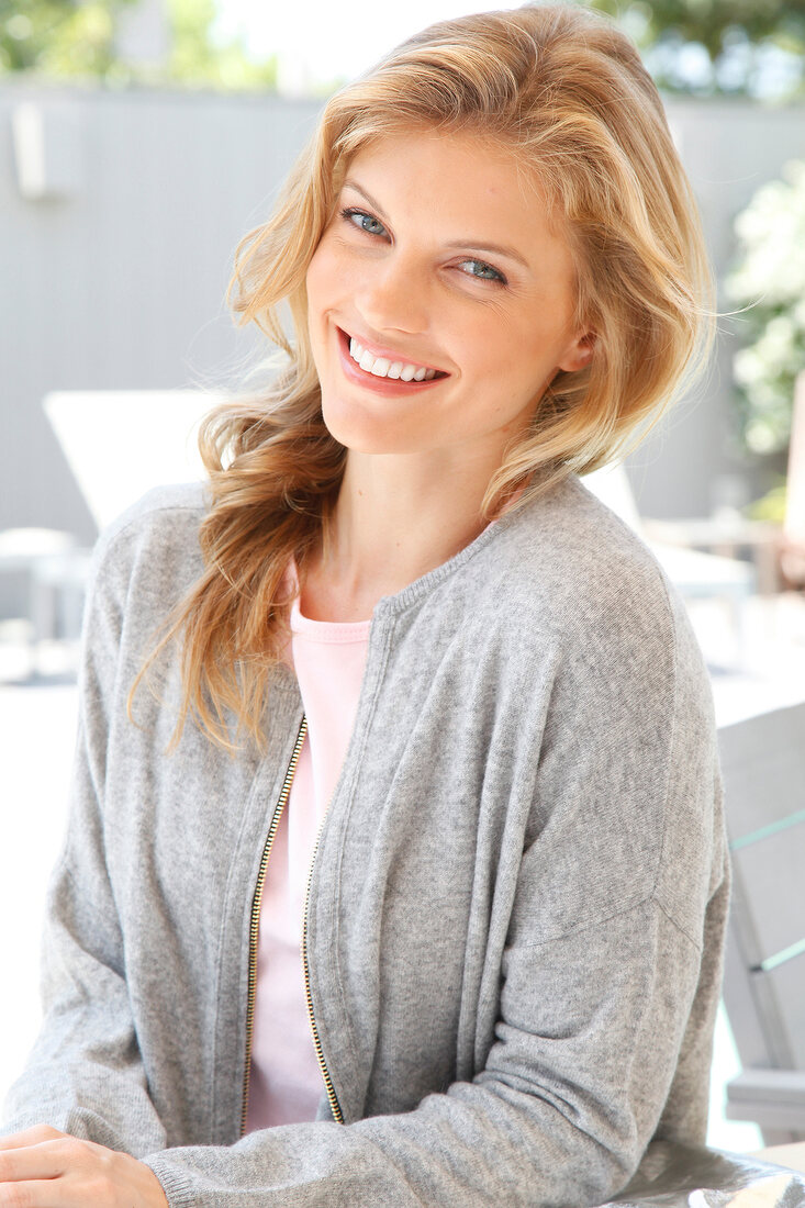
[[[612,962],[596,959],[621,941],[643,949],[639,983],[613,981]],[[659,948],[676,987],[651,976]],[[473,1082],[401,1115],[267,1129],[230,1149],[172,1149],[145,1162],[170,1208],[600,1203],[627,1181],[661,1111],[697,966],[659,912],[629,912],[574,945],[510,954],[499,1039]],[[523,1018],[523,981],[542,1017]],[[574,1012],[580,997],[590,1005]]]

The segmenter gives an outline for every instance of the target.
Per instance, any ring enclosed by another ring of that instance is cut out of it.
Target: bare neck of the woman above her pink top
[[[496,467],[351,451],[326,548],[306,570],[302,612],[366,620],[383,596],[447,562],[486,527],[481,504]]]

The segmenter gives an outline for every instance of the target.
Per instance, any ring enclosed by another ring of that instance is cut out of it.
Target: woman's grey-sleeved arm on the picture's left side
[[[138,1051],[104,858],[106,731],[97,719],[108,713],[121,627],[121,598],[108,581],[104,548],[87,605],[69,829],[48,893],[44,1022],[8,1093],[2,1132],[47,1123],[143,1154],[164,1145],[166,1134]]]

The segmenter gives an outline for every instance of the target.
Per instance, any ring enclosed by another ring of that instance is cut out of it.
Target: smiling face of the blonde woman
[[[363,453],[499,464],[555,373],[591,356],[544,197],[473,133],[401,133],[358,153],[307,296],[325,423]]]

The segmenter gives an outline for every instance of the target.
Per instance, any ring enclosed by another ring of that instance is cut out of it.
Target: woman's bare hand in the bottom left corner
[[[0,1138],[0,1208],[168,1208],[154,1171],[128,1154],[37,1125]]]

